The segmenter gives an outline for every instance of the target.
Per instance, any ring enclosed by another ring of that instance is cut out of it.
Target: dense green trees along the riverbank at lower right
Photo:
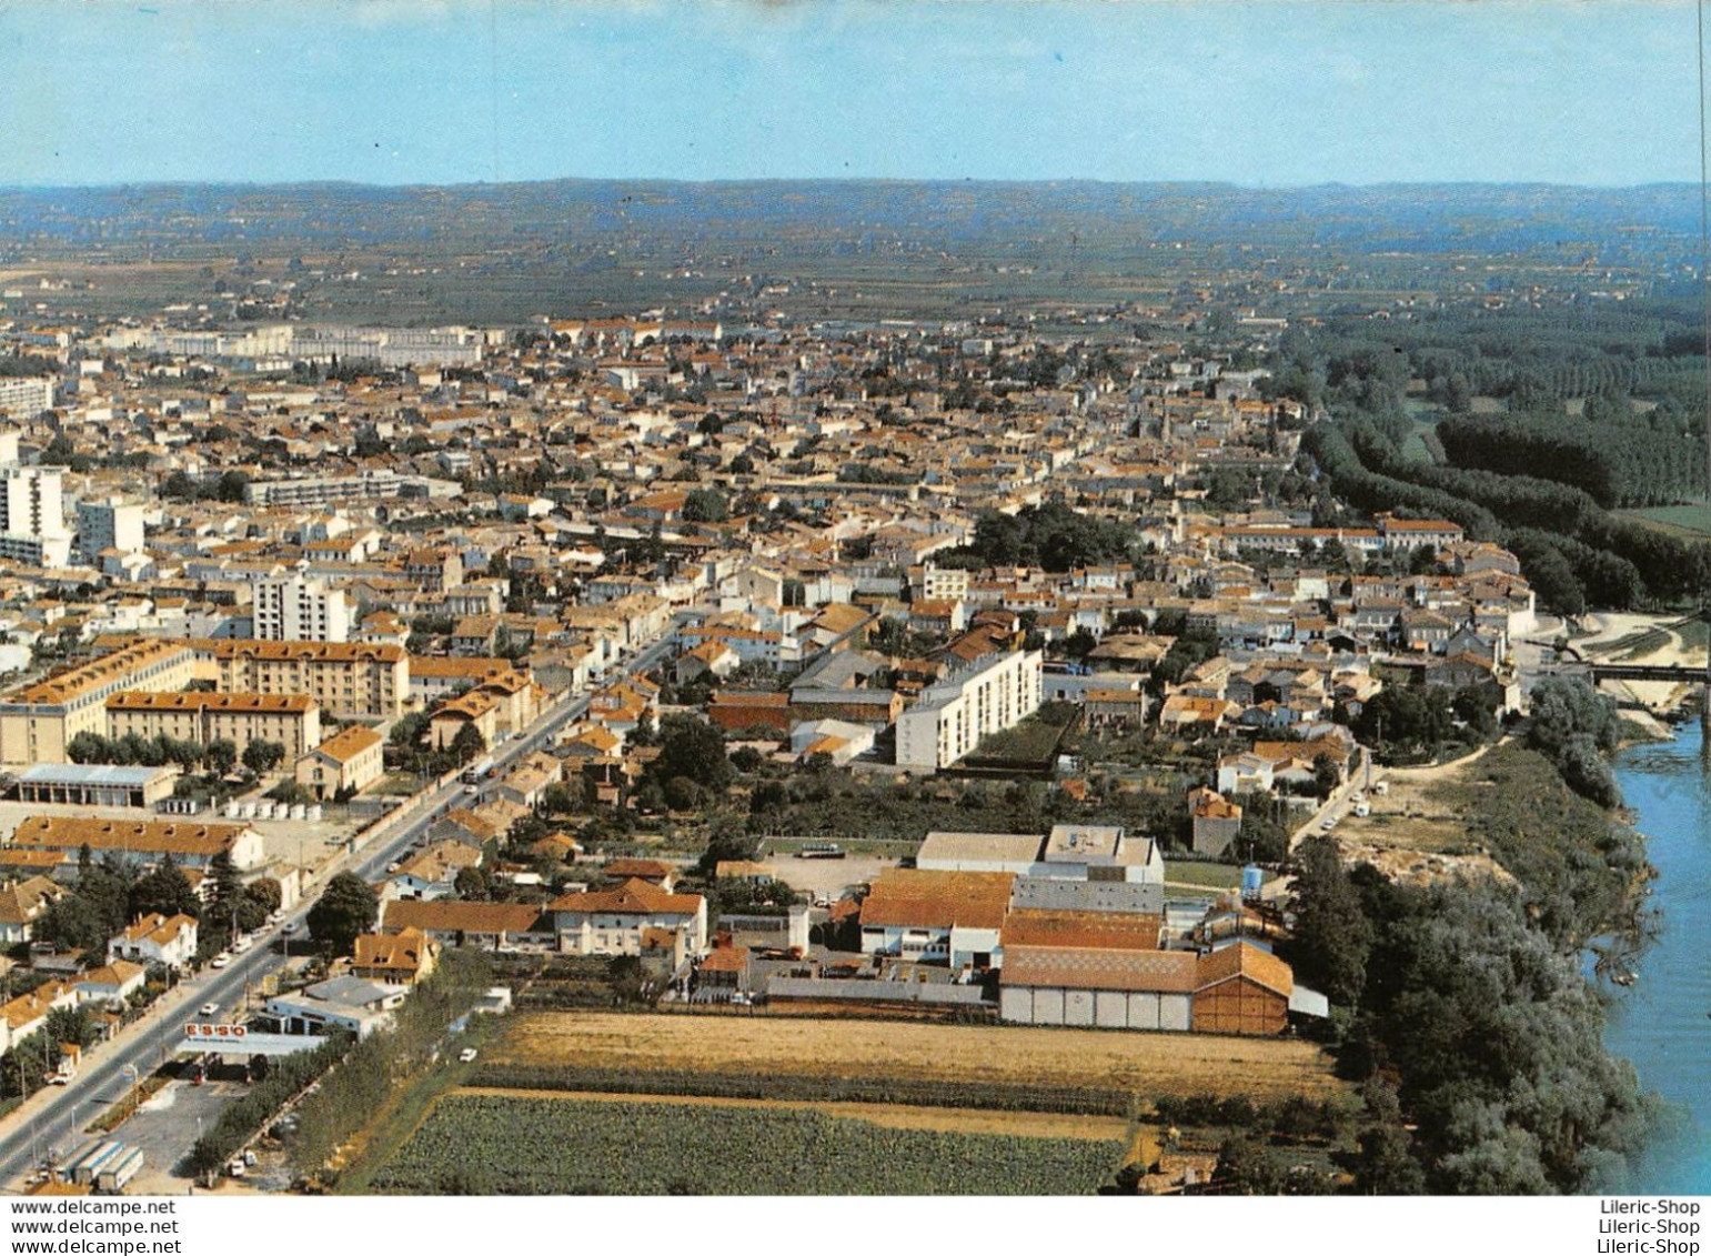
[[[1441,787],[1513,881],[1418,886],[1345,868],[1331,838],[1297,850],[1290,960],[1329,994],[1329,1046],[1364,1085],[1359,1191],[1620,1189],[1667,1119],[1605,1052],[1579,963],[1591,938],[1643,931],[1644,845],[1605,811],[1615,736],[1608,698],[1550,681],[1525,744]]]

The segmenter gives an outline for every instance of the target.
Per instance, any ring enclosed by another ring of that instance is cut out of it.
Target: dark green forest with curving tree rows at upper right
[[[1333,320],[1285,337],[1270,387],[1329,416],[1302,448],[1350,505],[1451,518],[1513,549],[1564,614],[1680,606],[1711,584],[1711,546],[1612,510],[1704,500],[1697,337],[1667,308]],[[1475,387],[1507,409],[1475,414]],[[1427,457],[1408,452],[1413,436]]]

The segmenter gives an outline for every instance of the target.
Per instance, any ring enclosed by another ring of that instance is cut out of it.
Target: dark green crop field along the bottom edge
[[[897,1129],[739,1105],[447,1095],[375,1176],[402,1194],[1090,1194],[1122,1140]]]

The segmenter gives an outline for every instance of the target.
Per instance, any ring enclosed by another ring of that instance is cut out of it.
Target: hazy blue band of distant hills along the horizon
[[[1696,238],[1692,185],[606,181],[366,187],[132,185],[0,190],[9,243],[301,241],[407,245],[483,234],[861,240],[921,245],[1338,243],[1367,250],[1516,252],[1632,233]]]

